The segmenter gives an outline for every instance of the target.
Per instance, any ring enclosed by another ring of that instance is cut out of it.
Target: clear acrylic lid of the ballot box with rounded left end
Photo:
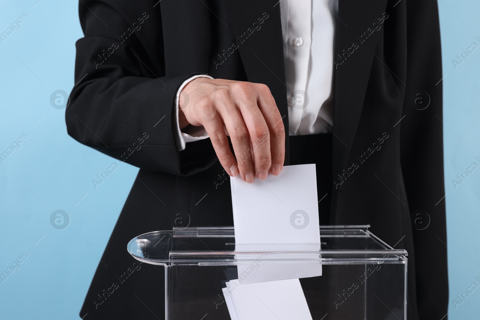
[[[173,228],[133,238],[127,246],[137,260],[158,265],[227,265],[254,261],[267,253],[268,262],[321,261],[322,264],[348,264],[366,261],[405,263],[407,251],[393,249],[373,235],[370,225],[320,226],[320,250],[289,244],[259,245],[239,250],[233,227]],[[308,246],[306,246],[308,247]]]

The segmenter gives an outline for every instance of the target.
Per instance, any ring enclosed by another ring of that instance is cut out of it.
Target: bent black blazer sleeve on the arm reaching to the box
[[[79,2],[84,37],[76,43],[67,131],[133,166],[191,175],[217,158],[209,140],[179,152],[175,99],[181,83],[204,71],[165,74],[162,19],[155,2]]]

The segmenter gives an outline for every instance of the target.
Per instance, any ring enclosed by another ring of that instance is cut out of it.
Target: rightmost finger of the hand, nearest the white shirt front
[[[276,107],[270,89],[264,84],[257,84],[257,104],[268,127],[271,167],[269,172],[277,176],[285,161],[285,127]]]

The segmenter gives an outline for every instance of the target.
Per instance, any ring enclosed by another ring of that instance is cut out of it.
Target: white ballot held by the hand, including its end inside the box
[[[236,255],[246,260],[237,265],[240,283],[307,278],[322,275],[318,254],[281,255],[282,251],[318,251],[318,219],[315,165],[284,166],[278,176],[255,179],[230,178],[235,250],[258,254]],[[275,255],[264,252],[276,251]],[[255,258],[258,256],[258,261]],[[274,261],[275,260],[275,261]],[[310,260],[310,261],[308,261]],[[251,262],[253,261],[253,262]],[[259,262],[261,261],[261,262]]]

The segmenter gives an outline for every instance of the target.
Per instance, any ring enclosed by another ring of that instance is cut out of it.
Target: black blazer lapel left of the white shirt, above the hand
[[[278,0],[228,1],[228,28],[232,28],[249,82],[264,83],[275,98],[286,132],[288,165],[288,107],[285,87],[282,23]]]

